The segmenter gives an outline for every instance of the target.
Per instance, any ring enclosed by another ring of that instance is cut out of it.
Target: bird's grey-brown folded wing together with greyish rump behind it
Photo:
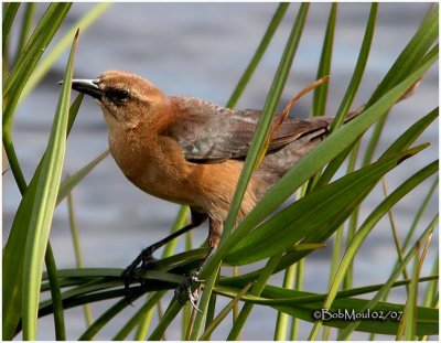
[[[169,97],[174,106],[175,124],[163,135],[179,142],[191,163],[213,164],[228,160],[245,161],[261,111],[228,109],[197,98]],[[276,114],[275,125],[281,114]],[[256,201],[327,133],[333,118],[287,118],[269,142],[267,154],[254,178]],[[233,187],[234,192],[235,186]]]

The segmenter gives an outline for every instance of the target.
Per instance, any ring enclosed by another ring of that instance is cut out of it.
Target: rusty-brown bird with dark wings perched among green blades
[[[127,179],[142,191],[189,205],[191,223],[144,248],[125,269],[126,290],[149,268],[154,250],[208,221],[208,254],[219,244],[245,158],[261,110],[230,109],[209,101],[170,96],[139,75],[107,71],[94,79],[73,79],[72,88],[99,105],[108,127],[111,156]],[[363,108],[348,115],[354,118]],[[282,114],[277,112],[276,124]],[[241,202],[240,222],[267,191],[329,133],[331,117],[287,117],[271,136]],[[187,289],[197,274],[184,279],[179,300],[197,297]],[[182,291],[184,289],[185,291]],[[197,309],[197,308],[196,308]]]

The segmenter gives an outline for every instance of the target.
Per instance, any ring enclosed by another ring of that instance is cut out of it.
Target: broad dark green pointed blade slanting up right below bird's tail
[[[234,265],[255,262],[286,251],[309,234],[334,232],[364,199],[361,194],[372,189],[404,157],[412,156],[421,148],[376,162],[308,194],[249,233],[247,239],[230,249],[225,261]]]

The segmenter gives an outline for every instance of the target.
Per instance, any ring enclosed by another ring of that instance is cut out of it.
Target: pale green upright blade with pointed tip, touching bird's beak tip
[[[55,120],[51,130],[47,150],[43,159],[40,179],[36,184],[35,201],[31,214],[33,229],[29,232],[26,238],[23,261],[24,287],[22,293],[24,340],[35,340],[36,337],[40,283],[66,147],[68,104],[71,100],[71,83],[77,36],[78,33],[75,35],[67,62]]]

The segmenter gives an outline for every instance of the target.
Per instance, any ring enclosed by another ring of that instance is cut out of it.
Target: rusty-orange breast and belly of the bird
[[[227,160],[203,164],[189,162],[170,137],[147,136],[128,130],[109,132],[110,152],[123,174],[142,191],[179,204],[201,208],[224,221],[236,189],[243,162]],[[256,203],[251,180],[243,201],[240,217]]]

